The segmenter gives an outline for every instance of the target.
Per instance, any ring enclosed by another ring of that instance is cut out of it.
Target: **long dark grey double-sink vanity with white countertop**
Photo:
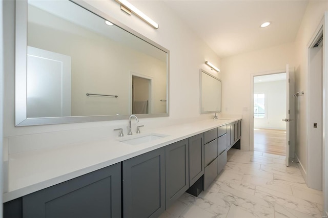
[[[157,217],[206,190],[240,137],[241,117],[209,119],[12,156],[4,217]]]

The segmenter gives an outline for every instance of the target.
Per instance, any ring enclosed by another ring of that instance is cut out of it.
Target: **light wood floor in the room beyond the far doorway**
[[[254,129],[254,150],[273,155],[286,156],[286,131],[277,129]]]

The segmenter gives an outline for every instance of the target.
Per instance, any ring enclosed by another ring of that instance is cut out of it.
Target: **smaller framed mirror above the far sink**
[[[200,69],[200,114],[221,112],[221,80]]]

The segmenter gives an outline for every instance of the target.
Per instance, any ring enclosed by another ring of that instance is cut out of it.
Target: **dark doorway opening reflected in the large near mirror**
[[[132,76],[132,114],[149,114],[151,79]]]

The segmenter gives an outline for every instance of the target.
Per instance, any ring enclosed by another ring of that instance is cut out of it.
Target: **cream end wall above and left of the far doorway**
[[[241,149],[250,150],[252,74],[285,72],[286,63],[296,66],[295,52],[292,42],[222,59],[222,112],[242,114]]]

